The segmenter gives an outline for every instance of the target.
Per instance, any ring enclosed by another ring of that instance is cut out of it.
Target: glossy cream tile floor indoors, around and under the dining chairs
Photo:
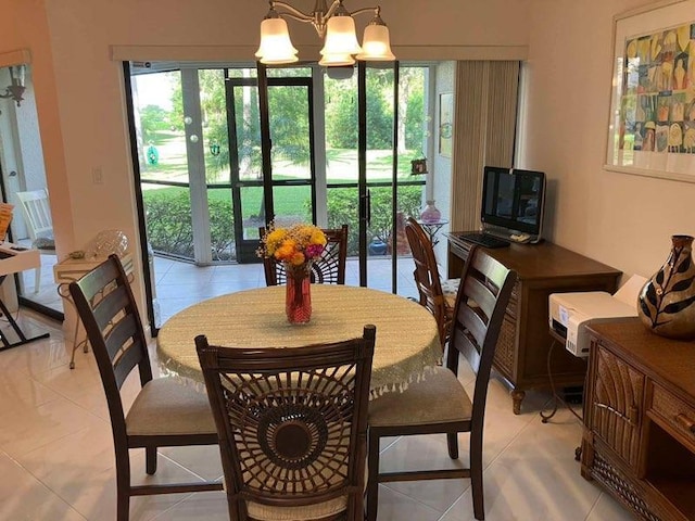
[[[50,331],[51,336],[0,352],[0,520],[112,520],[113,448],[93,357],[79,352],[77,367],[70,370],[70,345],[54,322],[26,309],[20,322],[28,334]],[[470,387],[472,373],[464,371],[462,380]],[[125,394],[131,399],[136,391],[135,380],[128,381]],[[561,409],[551,423],[541,423],[539,410],[547,401],[547,394],[529,393],[523,412],[514,416],[505,387],[491,382],[484,440],[486,519],[632,519],[580,476],[573,458],[579,421]],[[384,467],[454,465],[443,436],[392,440],[383,450]],[[462,444],[462,459],[466,457]],[[152,478],[144,473],[140,452],[131,458],[135,481],[222,475],[213,447],[163,449]],[[132,521],[228,519],[223,493],[135,498],[130,513]],[[472,519],[468,480],[381,487],[379,521]]]

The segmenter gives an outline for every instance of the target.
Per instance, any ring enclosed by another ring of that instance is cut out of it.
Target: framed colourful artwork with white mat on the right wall
[[[604,168],[695,182],[695,0],[614,17]]]

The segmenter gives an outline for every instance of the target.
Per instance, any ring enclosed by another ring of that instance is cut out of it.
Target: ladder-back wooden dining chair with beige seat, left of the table
[[[106,394],[116,456],[117,521],[128,519],[131,496],[223,490],[218,481],[130,484],[131,448],[144,448],[146,471],[154,474],[157,447],[217,444],[210,403],[204,393],[173,378],[152,378],[142,322],[117,255],[71,282],[70,293]],[[136,367],[141,389],[126,414],[121,387]]]

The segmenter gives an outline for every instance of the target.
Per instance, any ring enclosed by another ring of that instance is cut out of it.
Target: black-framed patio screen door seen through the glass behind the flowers
[[[306,77],[267,80],[267,149],[263,150],[263,119],[258,80],[227,80],[229,161],[231,166],[237,262],[258,262],[258,227],[313,223],[316,174],[311,69]],[[264,168],[263,156],[269,156]],[[271,216],[268,219],[268,216]]]

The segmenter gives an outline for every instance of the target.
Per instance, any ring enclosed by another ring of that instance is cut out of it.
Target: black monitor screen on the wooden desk
[[[544,195],[544,173],[485,166],[481,219],[486,225],[540,236]]]

